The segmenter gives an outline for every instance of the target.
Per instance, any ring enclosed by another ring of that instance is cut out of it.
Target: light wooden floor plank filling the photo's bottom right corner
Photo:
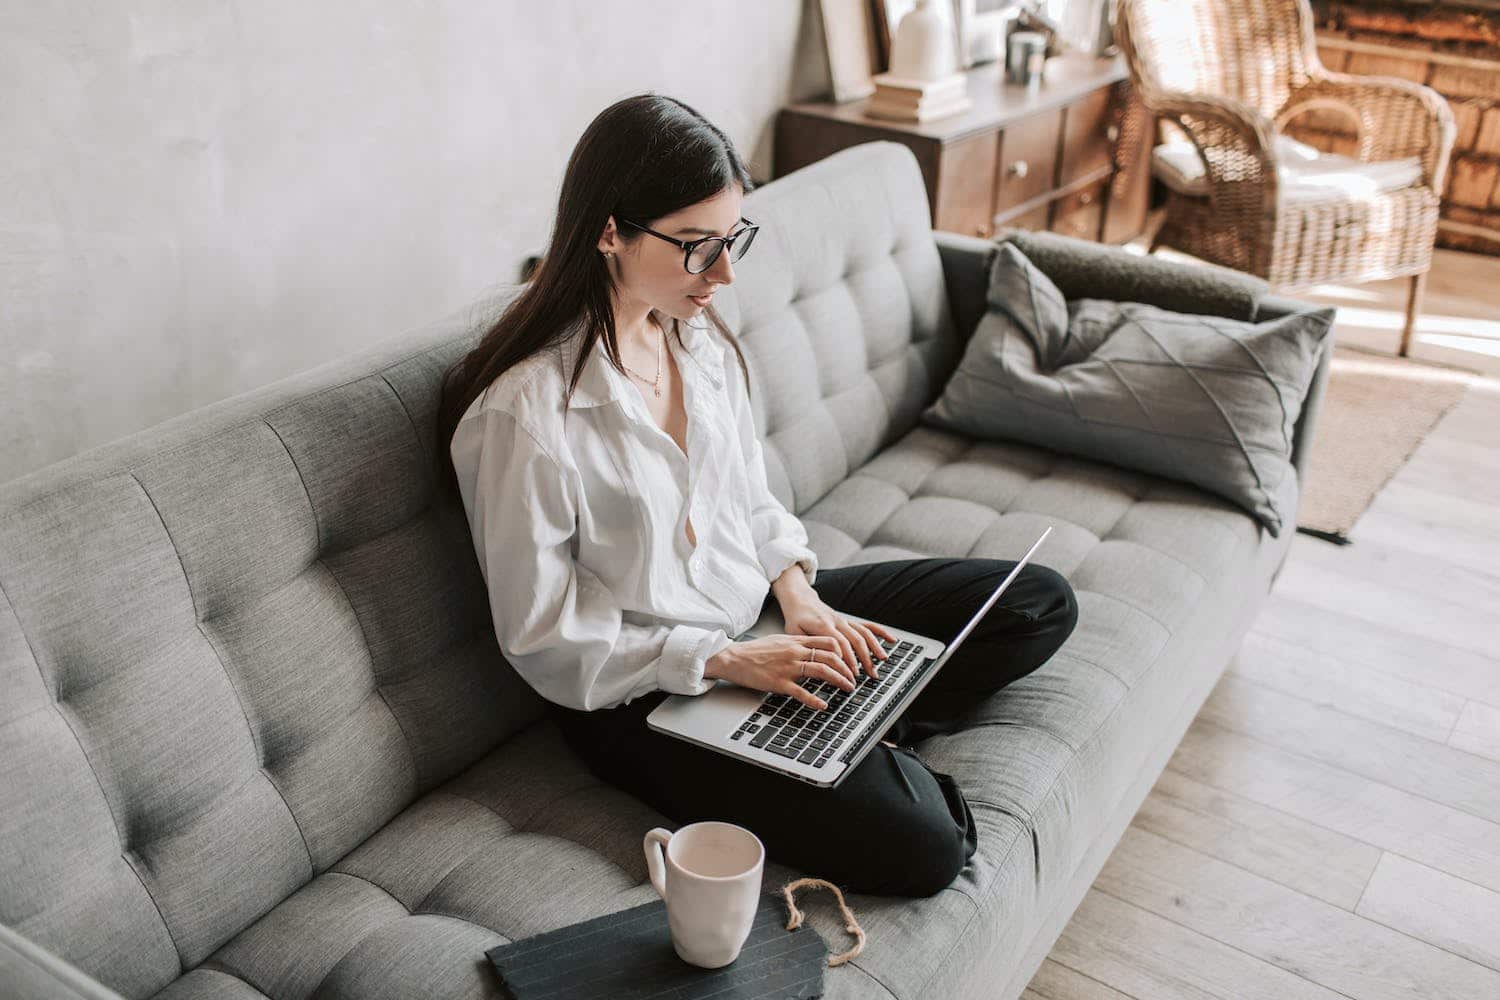
[[[1500,972],[1134,826],[1094,885],[1353,1000],[1500,997]]]

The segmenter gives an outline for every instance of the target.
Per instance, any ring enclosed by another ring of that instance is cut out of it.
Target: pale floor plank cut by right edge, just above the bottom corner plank
[[[1356,913],[1500,970],[1500,892],[1494,889],[1386,855]]]

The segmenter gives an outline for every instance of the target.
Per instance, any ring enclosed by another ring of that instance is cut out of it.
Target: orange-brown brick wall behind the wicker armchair
[[[1312,10],[1329,69],[1402,76],[1448,97],[1458,138],[1437,243],[1500,255],[1500,12],[1400,1],[1314,1]],[[1356,142],[1336,112],[1299,115],[1287,133],[1340,153]]]

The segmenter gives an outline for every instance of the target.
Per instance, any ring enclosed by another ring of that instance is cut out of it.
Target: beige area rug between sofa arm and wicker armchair
[[[1473,381],[1462,369],[1335,345],[1298,531],[1348,544],[1380,487]]]

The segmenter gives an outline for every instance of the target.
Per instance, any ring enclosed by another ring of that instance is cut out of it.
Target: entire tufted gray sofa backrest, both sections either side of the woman
[[[718,307],[804,510],[958,346],[906,147],[746,214]],[[150,994],[544,714],[432,475],[442,373],[516,291],[0,484],[0,922]]]

